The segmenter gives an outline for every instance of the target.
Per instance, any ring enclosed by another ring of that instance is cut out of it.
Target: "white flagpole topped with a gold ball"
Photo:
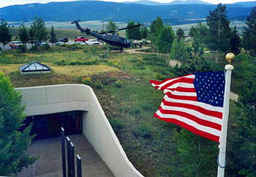
[[[226,167],[226,134],[228,131],[228,112],[229,112],[229,93],[231,85],[231,72],[234,67],[231,65],[231,61],[234,59],[235,55],[232,53],[226,54],[226,60],[229,64],[226,64],[225,70],[225,93],[223,101],[223,116],[222,116],[222,131],[220,135],[219,144],[219,155],[217,158],[218,170],[217,177],[224,177],[225,167]]]

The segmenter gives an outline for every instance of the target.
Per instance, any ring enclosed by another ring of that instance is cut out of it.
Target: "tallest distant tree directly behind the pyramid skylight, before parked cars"
[[[34,21],[30,26],[31,30],[34,32],[34,36],[36,36],[36,40],[39,43],[42,43],[47,39],[48,32],[46,31],[45,22],[40,17],[34,17]]]

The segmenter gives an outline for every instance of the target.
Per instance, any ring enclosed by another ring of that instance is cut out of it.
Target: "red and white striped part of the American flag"
[[[194,79],[195,75],[187,75],[161,82],[150,81],[152,86],[165,94],[154,116],[219,142],[223,108],[198,102]]]

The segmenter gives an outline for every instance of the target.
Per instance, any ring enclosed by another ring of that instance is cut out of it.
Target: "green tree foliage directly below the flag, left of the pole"
[[[175,134],[177,151],[181,165],[178,170],[184,177],[216,176],[217,144],[211,140],[194,135],[187,129]],[[214,175],[213,175],[214,174]]]

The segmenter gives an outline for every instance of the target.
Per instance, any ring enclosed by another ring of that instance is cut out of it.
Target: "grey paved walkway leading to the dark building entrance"
[[[101,157],[83,134],[69,135],[75,145],[75,155],[82,159],[82,173],[86,177],[114,177]],[[61,137],[37,140],[28,154],[38,155],[36,163],[19,173],[19,177],[62,177]]]

